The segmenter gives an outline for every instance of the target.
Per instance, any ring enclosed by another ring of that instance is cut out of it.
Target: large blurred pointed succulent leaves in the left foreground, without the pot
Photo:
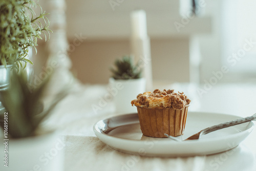
[[[1,92],[2,103],[8,112],[8,135],[12,138],[23,138],[36,135],[40,123],[54,109],[55,105],[67,95],[67,91],[60,91],[48,108],[42,103],[50,77],[46,78],[36,88],[29,89],[29,80],[24,72],[13,71],[10,87]],[[0,114],[1,120],[4,118]],[[4,129],[3,122],[0,122]]]

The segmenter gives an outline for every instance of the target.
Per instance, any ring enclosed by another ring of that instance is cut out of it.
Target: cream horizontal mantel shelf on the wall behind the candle
[[[73,19],[76,18],[76,19]],[[187,25],[176,29],[174,23],[182,24],[182,18],[171,18],[164,14],[147,14],[147,30],[151,38],[179,37],[211,32],[211,18],[194,18]],[[130,15],[94,14],[67,15],[68,37],[81,33],[88,38],[129,38],[131,35]]]

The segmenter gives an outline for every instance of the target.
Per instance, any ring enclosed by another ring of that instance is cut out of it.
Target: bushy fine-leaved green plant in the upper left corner
[[[0,0],[0,65],[15,65],[19,69],[28,62],[33,64],[26,59],[29,47],[36,50],[37,38],[42,39],[40,34],[51,31],[42,9],[35,16],[32,8],[36,6],[40,7],[32,0]]]

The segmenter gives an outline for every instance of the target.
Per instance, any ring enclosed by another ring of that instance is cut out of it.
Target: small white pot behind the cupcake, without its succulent
[[[136,99],[137,95],[145,92],[145,78],[138,79],[118,79],[110,78],[110,89],[112,93],[116,114],[127,114],[137,112],[137,108],[132,106],[131,101]]]

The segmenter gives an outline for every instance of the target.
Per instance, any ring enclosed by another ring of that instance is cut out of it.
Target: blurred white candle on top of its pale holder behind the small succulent
[[[132,36],[138,38],[147,37],[146,13],[144,10],[136,10],[131,13]]]

